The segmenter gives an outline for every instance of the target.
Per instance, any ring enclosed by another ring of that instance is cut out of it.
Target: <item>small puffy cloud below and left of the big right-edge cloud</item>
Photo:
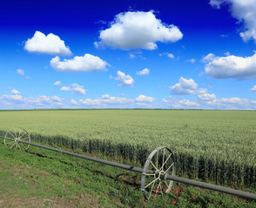
[[[195,83],[192,79],[186,80],[183,77],[180,77],[179,83],[170,87],[172,94],[194,94],[198,84]]]

